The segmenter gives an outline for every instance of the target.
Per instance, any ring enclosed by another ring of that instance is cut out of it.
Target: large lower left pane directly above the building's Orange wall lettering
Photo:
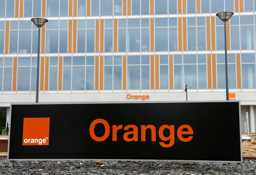
[[[128,89],[140,89],[140,66],[127,66]]]

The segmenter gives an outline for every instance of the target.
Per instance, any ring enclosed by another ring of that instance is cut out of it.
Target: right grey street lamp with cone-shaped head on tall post
[[[228,59],[227,59],[227,34],[226,34],[226,22],[231,18],[233,12],[220,12],[217,13],[216,16],[220,18],[224,22],[224,40],[225,40],[225,73],[226,73],[226,100],[228,97]]]

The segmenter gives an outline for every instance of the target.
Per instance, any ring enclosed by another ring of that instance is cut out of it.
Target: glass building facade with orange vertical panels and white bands
[[[87,1],[0,0],[0,91],[36,90],[34,17],[41,91],[225,89],[222,11],[229,88],[256,88],[256,0]]]

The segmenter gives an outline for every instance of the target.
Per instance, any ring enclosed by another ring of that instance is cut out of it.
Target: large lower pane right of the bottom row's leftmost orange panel
[[[18,68],[17,91],[30,90],[30,67]]]

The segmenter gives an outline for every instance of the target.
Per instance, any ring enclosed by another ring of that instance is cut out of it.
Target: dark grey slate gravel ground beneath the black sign
[[[82,164],[81,164],[82,163]],[[236,163],[200,163],[172,164],[171,162],[126,162],[117,167],[116,161],[104,161],[103,166],[95,161],[17,161],[14,167],[8,167],[9,161],[0,158],[0,174],[256,174],[256,161],[244,160],[242,170],[237,170]]]

